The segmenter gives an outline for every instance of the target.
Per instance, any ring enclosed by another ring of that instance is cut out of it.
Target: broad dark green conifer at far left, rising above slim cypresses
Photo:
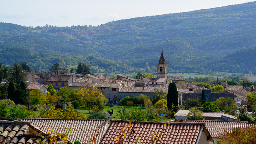
[[[23,69],[19,63],[14,62],[10,70],[11,73],[9,80],[13,81],[15,85],[19,85],[21,81],[25,81],[26,75],[22,73]]]

